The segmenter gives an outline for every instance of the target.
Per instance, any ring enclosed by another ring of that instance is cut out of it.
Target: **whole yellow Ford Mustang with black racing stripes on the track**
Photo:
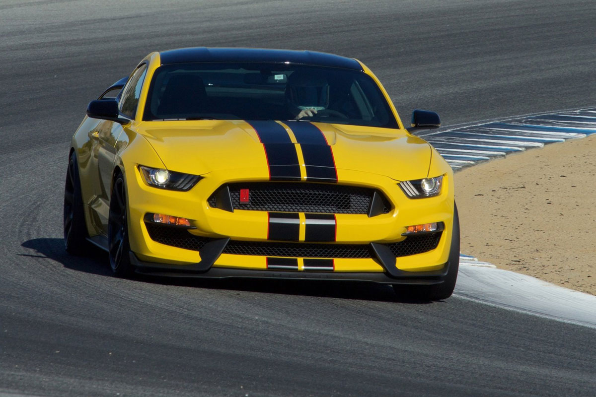
[[[427,299],[457,279],[451,167],[358,60],[153,52],[72,139],[64,242],[115,274],[367,280]]]

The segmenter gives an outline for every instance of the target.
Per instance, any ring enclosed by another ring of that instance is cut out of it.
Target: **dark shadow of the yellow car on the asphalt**
[[[63,239],[39,238],[21,243],[35,254],[26,257],[44,257],[59,262],[71,270],[113,277],[105,251],[91,246],[86,255],[74,256],[64,250]],[[195,277],[156,277],[138,274],[138,282],[159,285],[198,287],[206,289],[238,290],[244,292],[276,293],[280,295],[319,296],[322,298],[361,299],[365,301],[399,302],[404,304],[434,303],[415,297],[398,295],[389,285],[378,283],[330,280],[278,279],[200,279]]]

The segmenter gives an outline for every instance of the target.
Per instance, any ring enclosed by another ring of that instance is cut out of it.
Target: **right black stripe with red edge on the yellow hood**
[[[337,182],[337,170],[331,146],[325,135],[314,124],[306,121],[288,123],[300,143],[306,165],[306,179],[319,182]]]

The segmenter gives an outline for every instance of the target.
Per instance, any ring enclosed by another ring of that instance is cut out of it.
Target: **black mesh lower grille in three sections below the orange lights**
[[[212,239],[191,235],[184,229],[145,223],[152,240],[178,248],[200,251]],[[396,257],[421,254],[437,247],[442,232],[406,237],[386,244]],[[368,244],[280,243],[231,240],[224,254],[289,258],[374,258]]]

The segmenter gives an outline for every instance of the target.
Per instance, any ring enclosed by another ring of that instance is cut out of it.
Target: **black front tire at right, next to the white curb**
[[[460,269],[460,216],[454,203],[453,232],[449,248],[449,270],[440,284],[429,286],[393,285],[395,293],[401,298],[420,299],[423,301],[440,301],[452,295]]]

